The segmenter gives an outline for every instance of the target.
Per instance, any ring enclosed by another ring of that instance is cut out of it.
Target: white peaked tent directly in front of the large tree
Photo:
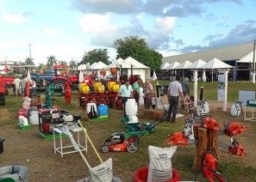
[[[150,78],[150,69],[146,65],[140,64],[140,62],[134,58],[128,57],[124,59],[119,65],[122,67],[122,70],[127,70],[128,76],[132,74],[133,70],[133,75],[140,75],[140,78],[143,82],[145,82],[147,78]]]

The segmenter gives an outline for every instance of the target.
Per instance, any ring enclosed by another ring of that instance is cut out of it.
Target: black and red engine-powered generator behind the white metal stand
[[[53,128],[56,124],[64,123],[64,116],[68,116],[69,112],[45,110],[39,113],[39,130],[46,136],[53,135]]]

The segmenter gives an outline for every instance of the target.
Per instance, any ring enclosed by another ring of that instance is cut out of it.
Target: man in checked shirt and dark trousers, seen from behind
[[[167,122],[175,123],[176,114],[178,112],[178,101],[179,96],[184,100],[183,90],[179,82],[180,76],[176,76],[175,81],[171,82],[168,87],[168,100],[169,100],[169,110],[167,116]],[[172,121],[170,121],[172,115]]]

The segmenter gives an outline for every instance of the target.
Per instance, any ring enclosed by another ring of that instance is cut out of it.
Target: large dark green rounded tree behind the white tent
[[[149,48],[145,39],[138,36],[116,39],[114,42],[117,56],[116,58],[128,58],[129,56],[147,65],[152,70],[159,70],[163,56],[155,50]]]

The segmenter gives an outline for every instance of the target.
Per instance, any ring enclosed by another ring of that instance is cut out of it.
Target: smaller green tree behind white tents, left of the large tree
[[[108,54],[108,49],[94,49],[90,52],[84,52],[84,57],[79,64],[94,64],[99,61],[103,62],[104,64],[109,64]]]

